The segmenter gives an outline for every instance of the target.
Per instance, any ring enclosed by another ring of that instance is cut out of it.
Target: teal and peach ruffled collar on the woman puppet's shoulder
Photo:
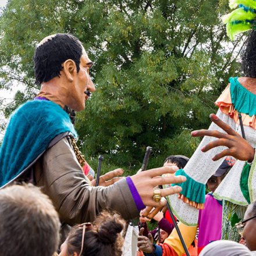
[[[233,79],[230,77],[230,82],[232,83],[232,86],[230,87],[230,84],[225,88],[221,96],[216,100],[215,104],[219,106],[219,109],[221,109],[222,113],[225,113],[226,115],[229,115],[230,118],[234,120],[234,122],[240,124],[239,118],[238,118],[238,111],[235,109],[234,104],[239,107],[243,125],[250,126],[254,130],[256,130],[256,116],[252,115],[249,116],[247,113],[253,113],[252,111],[256,109],[256,95],[251,93],[250,91],[246,90],[237,79]],[[238,87],[238,89],[237,89]],[[240,88],[243,87],[243,88]],[[231,93],[231,92],[232,93]],[[234,93],[235,91],[235,93]],[[233,94],[233,97],[232,97]],[[237,96],[241,95],[241,99],[236,100]],[[248,96],[249,95],[249,96]],[[233,98],[233,99],[232,99]],[[244,104],[244,101],[249,101],[248,104]],[[234,101],[232,103],[232,101]],[[235,103],[236,102],[236,103]],[[237,104],[238,102],[238,104]],[[245,106],[246,109],[241,108],[241,102],[243,102],[243,106]],[[247,112],[244,113],[243,111]]]

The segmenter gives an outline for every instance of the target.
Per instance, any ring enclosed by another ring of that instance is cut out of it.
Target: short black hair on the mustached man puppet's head
[[[81,42],[70,34],[56,34],[48,41],[35,48],[33,61],[35,84],[40,85],[56,76],[60,76],[62,63],[72,59],[79,72],[83,47]]]

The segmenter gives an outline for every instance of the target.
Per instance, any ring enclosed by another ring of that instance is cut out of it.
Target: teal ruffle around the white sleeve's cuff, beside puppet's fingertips
[[[187,178],[186,182],[172,184],[172,186],[182,187],[180,194],[189,198],[190,201],[197,202],[198,204],[204,204],[205,202],[205,184],[196,182],[189,175],[184,172],[183,169],[177,170],[175,176],[183,175]]]

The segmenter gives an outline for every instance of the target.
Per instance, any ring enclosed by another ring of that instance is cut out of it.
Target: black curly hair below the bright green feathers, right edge
[[[244,48],[241,52],[240,70],[246,77],[256,77],[256,31],[251,30],[244,42]]]

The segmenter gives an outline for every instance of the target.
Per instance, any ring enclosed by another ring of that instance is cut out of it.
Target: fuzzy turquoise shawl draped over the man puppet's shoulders
[[[16,109],[0,149],[0,187],[15,179],[58,134],[76,131],[69,115],[51,101],[29,101]]]

